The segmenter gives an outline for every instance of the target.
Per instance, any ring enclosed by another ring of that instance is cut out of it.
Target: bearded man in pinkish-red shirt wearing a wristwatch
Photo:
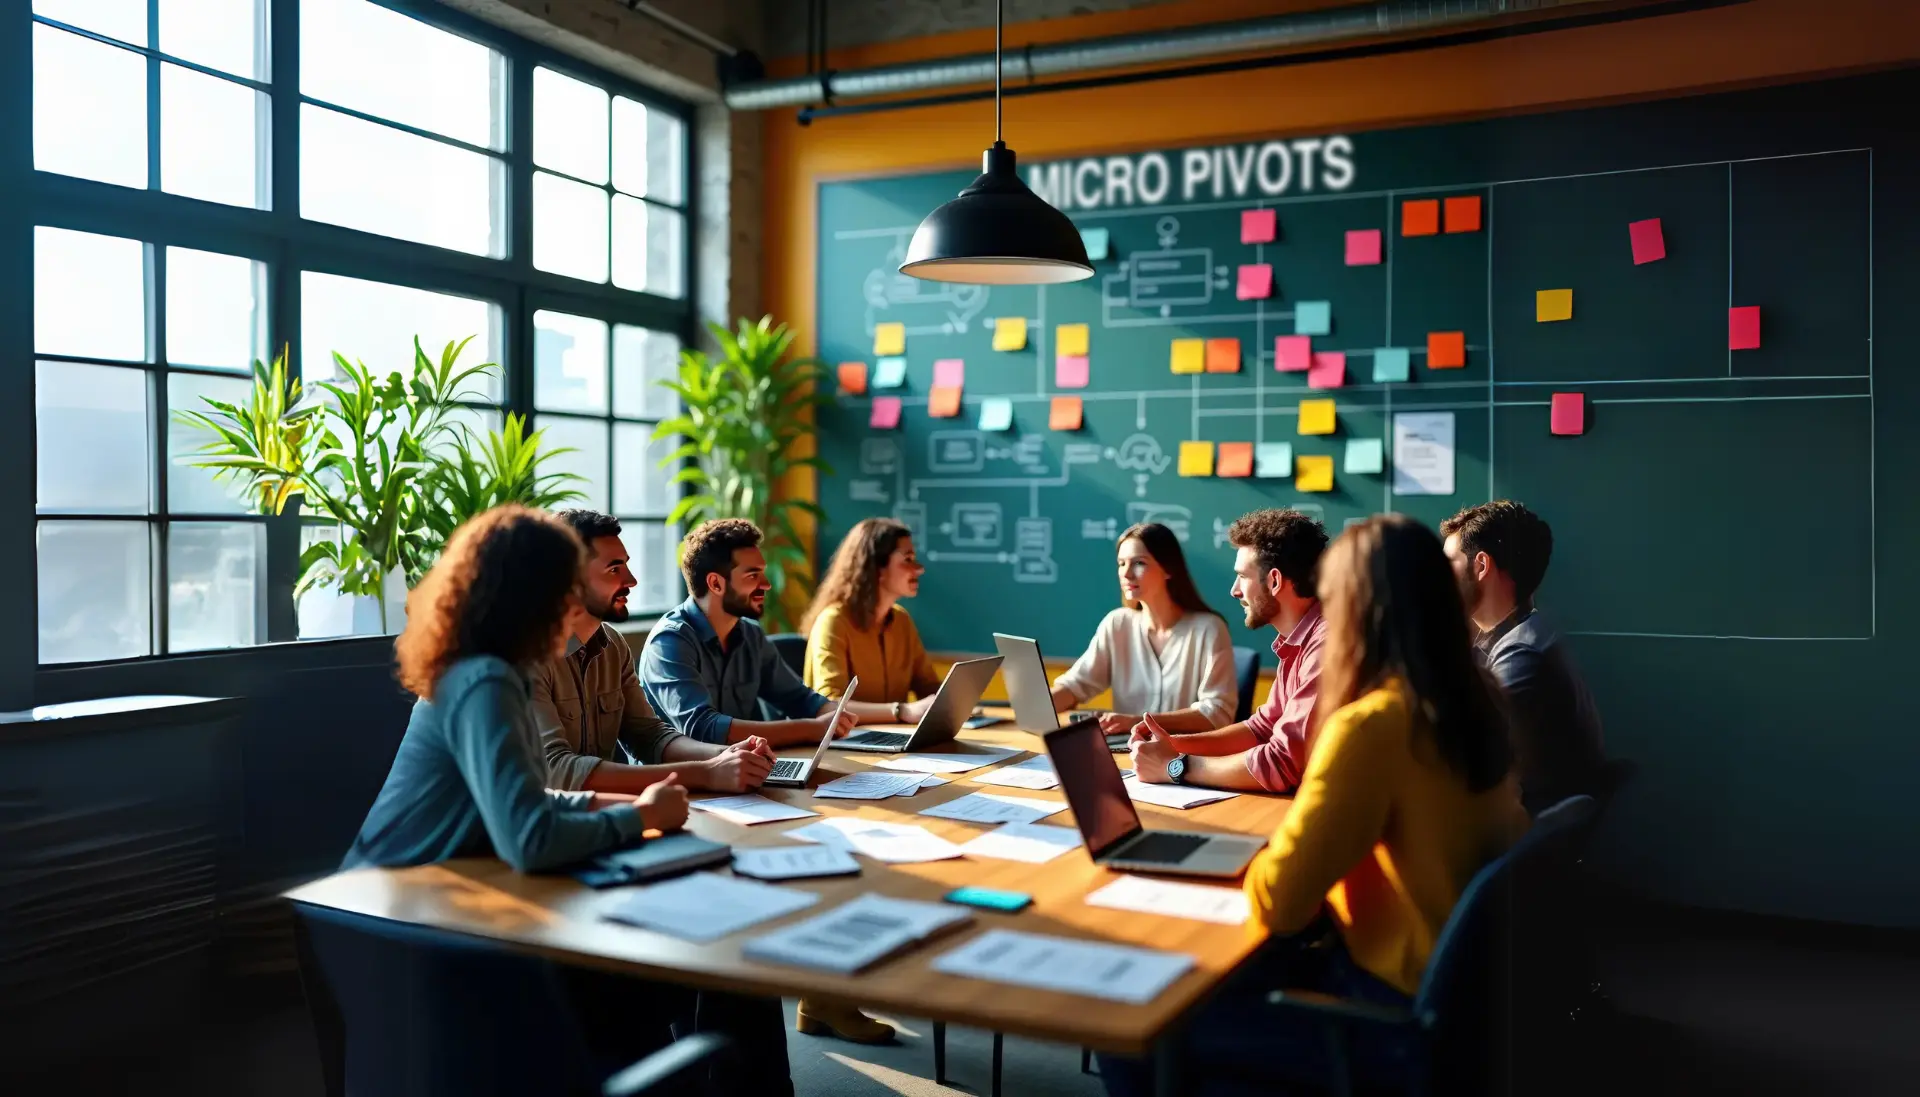
[[[1327,530],[1292,509],[1254,511],[1227,528],[1233,597],[1246,626],[1271,624],[1281,659],[1267,703],[1244,722],[1212,732],[1169,734],[1152,717],[1133,728],[1140,780],[1240,792],[1292,792],[1308,767],[1308,730],[1319,694],[1321,642],[1313,574]]]

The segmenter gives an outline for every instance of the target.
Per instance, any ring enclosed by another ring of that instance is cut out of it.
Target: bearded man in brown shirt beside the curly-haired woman
[[[582,607],[566,619],[566,655],[528,674],[547,751],[547,788],[639,793],[666,774],[678,774],[693,790],[756,788],[774,767],[766,740],[703,744],[676,732],[647,705],[634,651],[612,628],[626,621],[626,597],[634,592],[620,521],[582,509],[559,517],[588,546],[588,563]]]

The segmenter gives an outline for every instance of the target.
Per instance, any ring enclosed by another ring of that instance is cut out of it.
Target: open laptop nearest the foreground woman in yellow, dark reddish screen
[[[1246,870],[1246,863],[1265,845],[1244,834],[1142,828],[1098,720],[1073,720],[1043,742],[1094,865],[1231,878]]]

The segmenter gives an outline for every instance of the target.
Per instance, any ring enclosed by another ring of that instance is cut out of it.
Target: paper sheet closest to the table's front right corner
[[[1140,1005],[1154,1001],[1173,980],[1194,966],[1183,953],[1158,953],[989,930],[933,959],[933,970],[1035,989],[1058,989],[1106,1001]]]

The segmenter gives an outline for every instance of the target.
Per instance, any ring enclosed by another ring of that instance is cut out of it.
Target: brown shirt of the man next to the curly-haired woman
[[[639,690],[634,649],[611,624],[572,653],[534,667],[534,722],[547,753],[547,786],[578,790],[603,761],[660,761],[680,738]]]

